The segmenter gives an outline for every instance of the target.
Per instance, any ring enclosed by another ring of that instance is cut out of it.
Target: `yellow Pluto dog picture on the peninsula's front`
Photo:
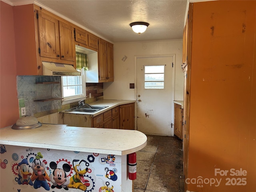
[[[84,174],[88,172],[88,166],[89,163],[85,160],[81,160],[79,164],[74,165],[74,162],[78,162],[79,160],[74,159],[73,160],[73,169],[75,171],[75,174],[70,177],[70,184],[68,184],[68,188],[76,188],[85,191],[88,186],[90,186],[89,182],[86,182],[84,179]],[[86,168],[82,170],[81,163],[85,162]],[[87,185],[87,186],[86,186]]]

